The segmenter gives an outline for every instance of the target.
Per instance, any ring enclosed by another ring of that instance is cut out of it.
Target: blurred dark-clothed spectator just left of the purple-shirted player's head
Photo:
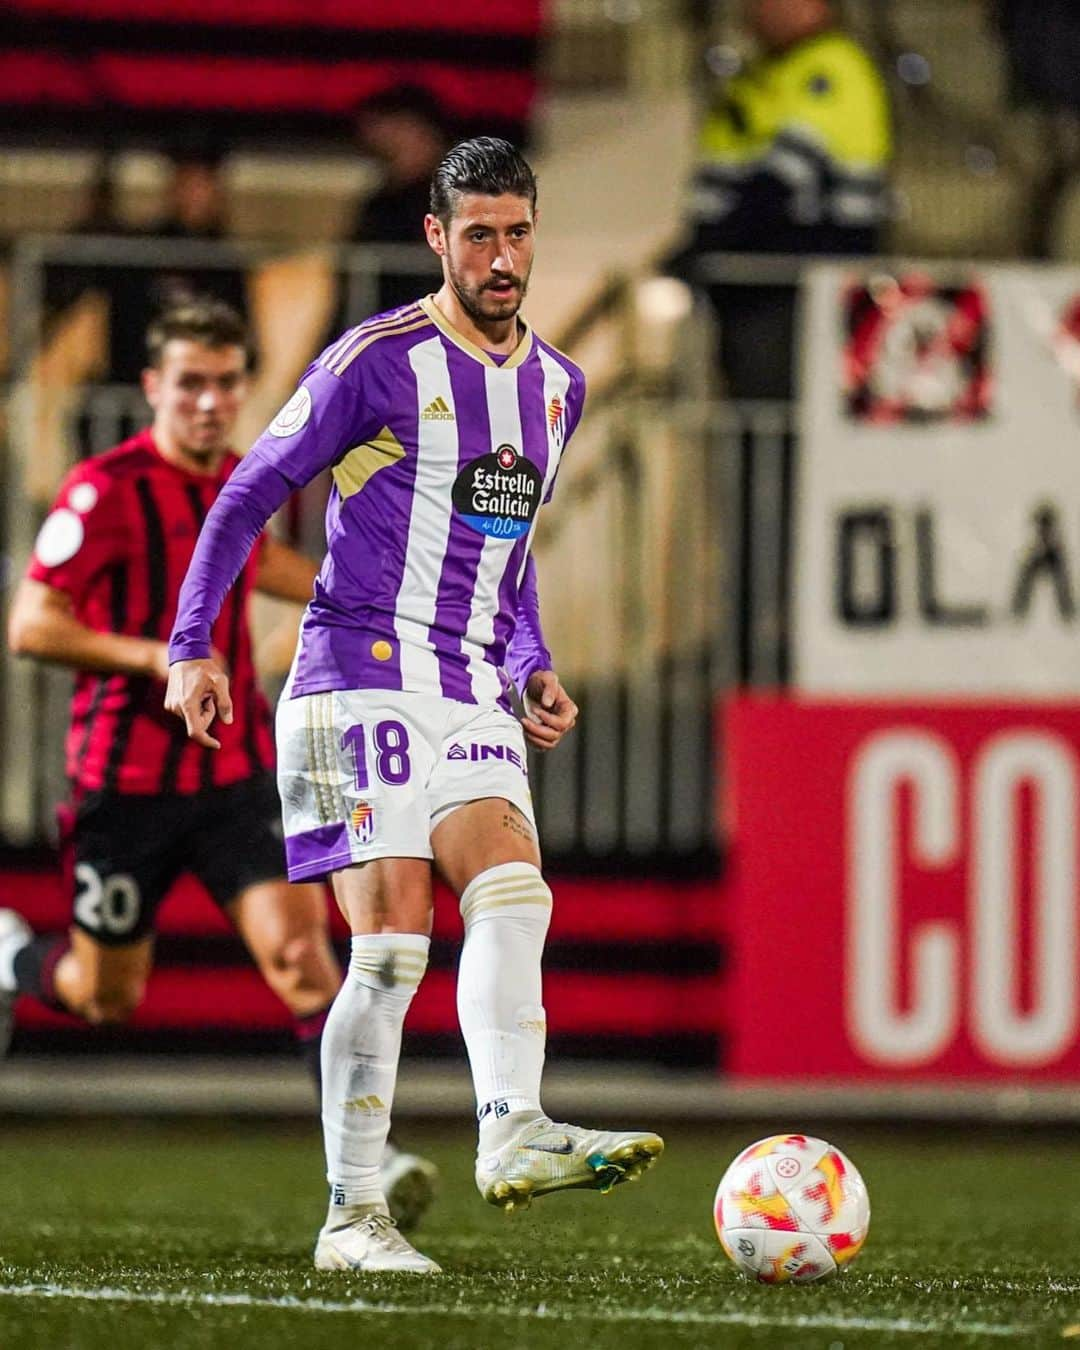
[[[354,134],[363,154],[375,159],[382,182],[362,204],[352,225],[354,243],[424,244],[431,176],[451,144],[448,119],[439,101],[418,85],[398,85],[366,99],[354,112]],[[441,274],[432,259],[431,279]],[[379,274],[371,312],[416,300],[427,277],[387,269]],[[359,323],[367,315],[347,315]]]

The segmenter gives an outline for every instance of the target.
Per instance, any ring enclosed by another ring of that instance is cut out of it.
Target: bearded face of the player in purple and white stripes
[[[447,279],[478,324],[513,319],[529,286],[533,213],[524,197],[466,193],[447,231]]]

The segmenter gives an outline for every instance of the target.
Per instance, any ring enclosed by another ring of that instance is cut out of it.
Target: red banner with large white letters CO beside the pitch
[[[738,698],[729,1066],[1080,1079],[1080,705]]]

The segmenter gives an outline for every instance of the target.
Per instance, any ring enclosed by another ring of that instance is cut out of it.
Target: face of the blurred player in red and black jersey
[[[167,342],[146,383],[155,432],[189,459],[216,459],[228,447],[246,385],[240,347]]]

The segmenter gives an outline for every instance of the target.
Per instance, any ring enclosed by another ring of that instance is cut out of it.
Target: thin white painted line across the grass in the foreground
[[[72,1299],[84,1303],[148,1303],[174,1308],[271,1308],[285,1312],[352,1312],[385,1316],[424,1318],[521,1318],[522,1320],[552,1322],[653,1322],[683,1323],[705,1327],[788,1327],[792,1330],[822,1331],[894,1331],[899,1334],[1025,1336],[1037,1328],[1030,1326],[1000,1326],[983,1322],[927,1322],[915,1318],[841,1318],[829,1314],[795,1314],[768,1316],[757,1312],[694,1312],[666,1308],[578,1308],[539,1303],[533,1307],[467,1308],[451,1303],[369,1303],[364,1299],[328,1301],[327,1299],[259,1297],[251,1293],[197,1293],[194,1291],[142,1292],[139,1289],[72,1289],[59,1284],[5,1284],[0,1285],[0,1299]]]

